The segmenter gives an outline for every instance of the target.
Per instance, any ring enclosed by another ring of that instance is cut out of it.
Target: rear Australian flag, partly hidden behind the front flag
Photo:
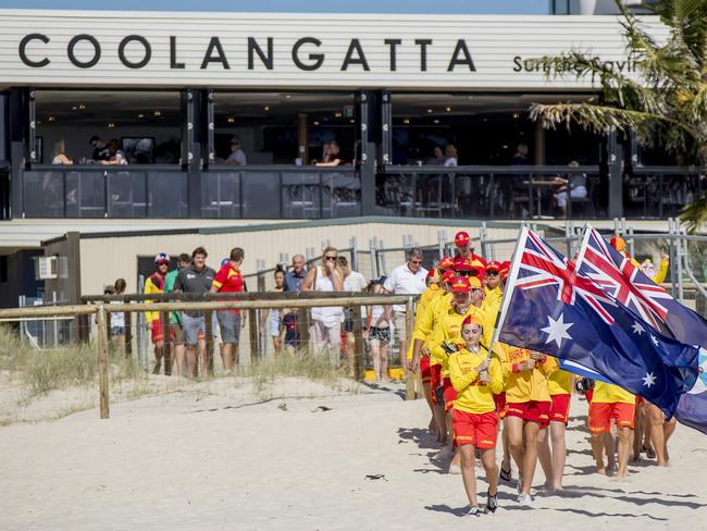
[[[588,225],[576,268],[617,302],[641,316],[647,325],[680,343],[700,347],[699,376],[680,397],[675,417],[683,424],[707,433],[707,321],[656,285],[629,256],[611,247]]]

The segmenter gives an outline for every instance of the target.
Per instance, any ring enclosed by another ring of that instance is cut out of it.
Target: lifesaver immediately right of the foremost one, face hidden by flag
[[[547,378],[557,360],[544,354],[499,344],[506,380],[506,420],[510,454],[518,466],[518,503],[532,506],[530,491],[537,462],[537,440],[549,424]]]

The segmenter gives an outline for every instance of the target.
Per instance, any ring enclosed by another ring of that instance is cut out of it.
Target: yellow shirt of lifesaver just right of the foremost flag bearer
[[[511,347],[504,343],[495,344],[500,357],[506,380],[506,402],[550,402],[547,379],[557,370],[557,359],[547,356],[545,361],[535,363],[532,371],[518,371],[518,365],[528,361],[533,353],[529,348]]]

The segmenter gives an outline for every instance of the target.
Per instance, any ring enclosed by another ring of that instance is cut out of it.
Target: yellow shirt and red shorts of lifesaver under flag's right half
[[[590,404],[590,430],[592,433],[609,431],[611,419],[619,428],[630,428],[636,412],[635,395],[611,383],[596,381]]]

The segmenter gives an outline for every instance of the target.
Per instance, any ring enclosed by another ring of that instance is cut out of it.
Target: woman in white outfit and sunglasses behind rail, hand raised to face
[[[309,270],[302,281],[302,292],[343,292],[344,280],[336,269],[338,252],[335,247],[326,247],[322,264]],[[312,322],[309,335],[315,354],[327,353],[332,367],[339,362],[342,343],[342,322],[344,310],[340,306],[312,308]]]

